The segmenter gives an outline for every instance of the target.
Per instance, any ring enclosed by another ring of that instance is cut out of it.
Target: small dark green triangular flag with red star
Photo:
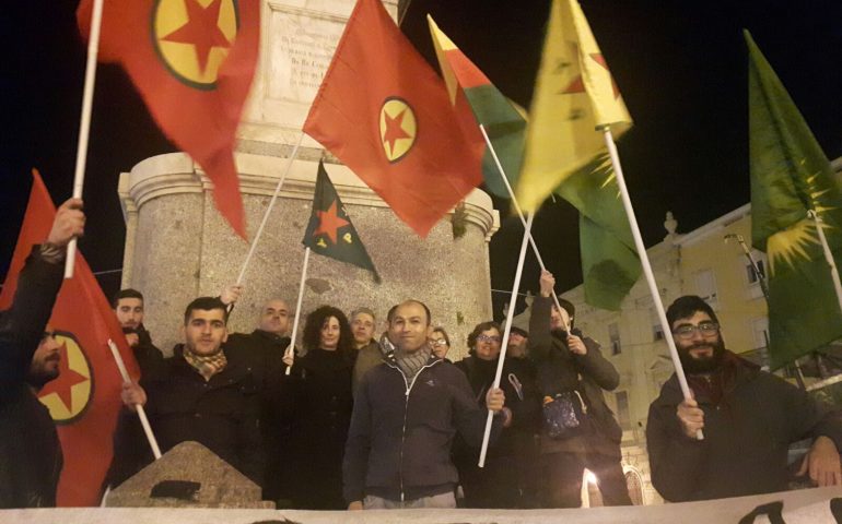
[[[381,282],[377,270],[374,269],[374,263],[351,224],[351,218],[346,213],[321,162],[318,163],[313,212],[302,242],[314,253],[369,270],[374,273],[374,279]]]

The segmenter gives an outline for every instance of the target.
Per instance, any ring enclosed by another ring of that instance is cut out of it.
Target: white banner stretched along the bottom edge
[[[3,524],[842,524],[842,488],[584,510],[272,511],[84,508],[0,511]]]

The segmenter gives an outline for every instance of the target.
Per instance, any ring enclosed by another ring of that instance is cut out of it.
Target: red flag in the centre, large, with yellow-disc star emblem
[[[422,237],[482,182],[479,130],[379,0],[358,0],[304,131]]]

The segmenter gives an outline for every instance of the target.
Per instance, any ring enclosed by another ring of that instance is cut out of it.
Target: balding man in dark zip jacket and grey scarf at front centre
[[[430,331],[423,302],[390,311],[395,349],[362,378],[354,400],[342,467],[349,510],[456,505],[454,436],[479,446],[488,412],[465,374],[432,355]],[[499,414],[504,400],[502,390],[489,389],[486,405]],[[495,416],[492,439],[502,425]]]

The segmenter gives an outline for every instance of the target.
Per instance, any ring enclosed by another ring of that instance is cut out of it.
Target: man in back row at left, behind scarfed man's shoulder
[[[143,294],[137,289],[120,289],[112,301],[114,313],[126,335],[142,377],[159,372],[164,359],[161,349],[152,343],[152,337],[143,325],[145,314]]]

